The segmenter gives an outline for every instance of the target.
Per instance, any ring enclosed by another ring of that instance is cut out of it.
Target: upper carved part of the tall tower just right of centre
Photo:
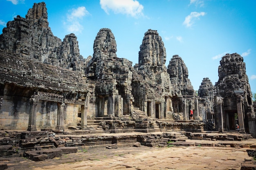
[[[135,70],[150,84],[169,87],[164,42],[156,30],[149,29],[144,35],[139,51],[139,64],[135,65]]]

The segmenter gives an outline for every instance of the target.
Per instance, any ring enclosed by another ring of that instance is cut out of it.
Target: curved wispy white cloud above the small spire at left
[[[81,33],[83,31],[83,25],[80,22],[87,15],[90,15],[90,13],[85,7],[70,10],[67,14],[67,22],[64,22],[64,25],[67,26],[67,31],[75,34]]]

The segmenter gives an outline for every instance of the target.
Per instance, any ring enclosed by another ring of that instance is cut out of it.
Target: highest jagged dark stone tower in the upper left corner
[[[0,35],[0,49],[20,54],[22,57],[44,62],[48,55],[61,45],[61,40],[48,27],[44,2],[34,3],[26,18],[17,15],[7,23]]]

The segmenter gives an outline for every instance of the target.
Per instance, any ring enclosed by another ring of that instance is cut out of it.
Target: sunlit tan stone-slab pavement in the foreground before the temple
[[[256,139],[249,141],[256,143]],[[77,153],[40,162],[23,157],[2,158],[5,159],[2,162],[7,163],[8,170],[240,170],[245,159],[252,159],[246,149],[200,146],[80,148]]]

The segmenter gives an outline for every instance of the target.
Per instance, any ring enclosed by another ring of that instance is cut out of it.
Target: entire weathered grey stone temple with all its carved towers
[[[166,67],[166,49],[156,30],[144,34],[134,66],[117,56],[110,29],[99,30],[93,49],[85,59],[73,33],[63,41],[55,37],[44,2],[35,3],[25,18],[9,21],[0,35],[2,132],[216,130],[256,136],[252,92],[239,54],[223,56],[218,82],[213,86],[204,78],[197,95],[180,56],[173,55]],[[190,109],[194,120],[189,120]]]

